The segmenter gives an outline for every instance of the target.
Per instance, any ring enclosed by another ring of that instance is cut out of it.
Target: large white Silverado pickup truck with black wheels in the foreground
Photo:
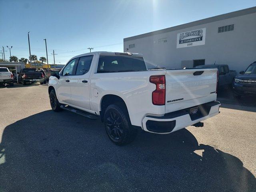
[[[147,70],[141,54],[92,52],[73,57],[49,78],[52,110],[100,116],[112,142],[138,128],[168,134],[219,113],[217,69]]]

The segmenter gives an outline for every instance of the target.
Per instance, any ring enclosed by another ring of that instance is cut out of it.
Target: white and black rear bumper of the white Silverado
[[[194,108],[197,106],[193,106]],[[199,114],[190,116],[190,108],[165,114],[164,116],[146,116],[142,120],[142,128],[147,132],[168,134],[187,126],[196,124],[219,114],[220,102],[212,101],[198,105]]]

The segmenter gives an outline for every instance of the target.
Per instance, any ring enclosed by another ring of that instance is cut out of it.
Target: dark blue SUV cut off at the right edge
[[[232,88],[235,98],[239,99],[245,94],[256,96],[256,61],[245,71],[240,71],[240,75],[234,78]]]

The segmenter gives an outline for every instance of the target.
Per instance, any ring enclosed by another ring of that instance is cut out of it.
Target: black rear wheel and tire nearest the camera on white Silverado
[[[128,112],[116,104],[106,108],[104,124],[108,138],[118,146],[128,144],[136,137],[137,130],[132,127]]]

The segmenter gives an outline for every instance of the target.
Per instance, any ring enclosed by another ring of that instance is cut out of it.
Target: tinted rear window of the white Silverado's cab
[[[98,73],[128,72],[146,70],[142,57],[131,56],[100,56]]]

